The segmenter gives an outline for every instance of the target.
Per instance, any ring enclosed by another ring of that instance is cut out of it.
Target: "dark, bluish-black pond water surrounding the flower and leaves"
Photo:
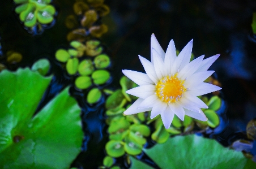
[[[44,29],[44,32],[28,33],[14,12],[15,3],[11,0],[1,1],[0,62],[6,64],[9,70],[15,71],[19,67],[31,67],[40,58],[50,60],[50,73],[54,77],[37,111],[62,89],[71,85],[71,95],[82,107],[84,131],[82,153],[72,166],[97,168],[102,165],[108,141],[105,98],[96,105],[88,105],[84,93],[74,88],[74,77],[67,75],[54,57],[59,48],[69,47],[66,36],[70,29],[65,26],[65,19],[74,14],[74,2],[52,1],[57,10],[54,23]],[[211,135],[209,131],[207,137],[216,138],[224,146],[230,145],[232,139],[236,140],[234,138],[245,137],[242,132],[246,131],[246,125],[256,118],[256,36],[251,30],[253,12],[256,11],[255,1],[106,0],[105,4],[109,6],[110,13],[101,21],[108,26],[108,32],[99,39],[104,45],[105,53],[112,60],[112,66],[108,69],[112,80],[105,86],[110,89],[120,88],[119,80],[123,69],[144,72],[138,54],[150,59],[152,33],[164,50],[171,39],[179,50],[193,39],[195,57],[205,54],[205,58],[208,58],[220,54],[210,70],[216,72],[215,76],[221,84],[224,106],[220,111],[226,114],[220,131],[216,128],[217,136]],[[7,51],[22,54],[22,61],[7,64]],[[151,144],[150,141],[148,144]],[[142,161],[151,163],[146,155],[141,156]],[[121,162],[122,159],[118,161]],[[128,168],[129,165],[122,167]]]

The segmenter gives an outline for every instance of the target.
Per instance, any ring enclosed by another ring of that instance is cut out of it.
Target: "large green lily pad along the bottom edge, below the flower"
[[[224,148],[215,140],[196,135],[169,138],[164,144],[143,151],[163,169],[256,168],[256,163],[249,164],[250,159],[246,159],[241,152]],[[135,158],[131,158],[131,161],[132,169],[147,168]]]

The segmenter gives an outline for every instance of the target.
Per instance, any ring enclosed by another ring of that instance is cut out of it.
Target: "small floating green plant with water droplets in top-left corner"
[[[51,0],[14,0],[14,2],[19,5],[15,8],[15,12],[19,14],[19,19],[25,27],[32,28],[37,24],[50,24],[54,20],[56,9],[49,5]]]

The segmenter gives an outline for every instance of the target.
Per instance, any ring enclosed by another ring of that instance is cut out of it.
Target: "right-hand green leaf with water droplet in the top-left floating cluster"
[[[56,10],[54,6],[52,5],[47,5],[41,10],[37,10],[35,12],[36,18],[41,24],[49,24],[53,21],[53,15],[55,14]]]

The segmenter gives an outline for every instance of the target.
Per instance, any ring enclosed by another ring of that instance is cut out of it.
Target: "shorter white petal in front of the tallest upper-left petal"
[[[164,62],[158,56],[158,53],[155,49],[152,49],[153,53],[153,65],[155,67],[156,75],[159,79],[162,79],[164,76],[167,76],[167,72],[164,70]]]

